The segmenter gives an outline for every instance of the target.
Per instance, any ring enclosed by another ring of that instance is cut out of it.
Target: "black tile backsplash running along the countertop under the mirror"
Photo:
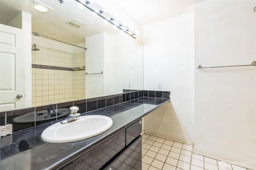
[[[86,113],[89,111],[93,111],[96,109],[102,109],[104,107],[108,106],[113,106],[116,104],[120,104],[123,102],[128,102],[128,101],[134,101],[137,100],[138,98],[146,97],[146,98],[167,98],[170,99],[170,92],[169,91],[154,91],[154,90],[123,90],[124,93],[120,94],[114,94],[110,96],[102,96],[98,98],[90,98],[90,99],[82,99],[82,100],[75,100],[75,101],[70,101],[70,102],[63,102],[63,103],[58,103],[58,104],[52,104],[56,109],[58,108],[69,108],[71,106],[78,106],[79,110],[78,113]],[[127,103],[129,105],[129,103]],[[1,111],[0,112],[0,125],[6,125],[5,120],[7,119],[7,123],[10,124],[15,124],[12,121],[10,121],[10,117],[13,115],[22,115],[28,113],[28,111],[42,111],[45,110],[47,107],[50,105],[45,105],[45,106],[36,106],[36,107],[30,107],[30,108],[25,108],[25,109],[17,109],[13,111]],[[36,118],[36,117],[35,117]],[[22,129],[15,129],[13,128],[13,132],[28,129],[31,127],[35,127],[37,125],[42,125],[45,123],[49,123],[51,121],[56,121],[56,120],[61,120],[64,119],[63,117],[56,117],[56,119],[39,123],[35,122],[34,123],[28,123],[28,125],[23,125],[21,128]],[[25,127],[26,126],[26,127]]]

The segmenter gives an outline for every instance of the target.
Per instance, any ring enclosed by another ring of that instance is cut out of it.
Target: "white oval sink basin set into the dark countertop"
[[[60,122],[46,128],[41,137],[46,142],[65,143],[96,136],[110,127],[113,121],[103,115],[80,116],[80,119],[66,124]]]

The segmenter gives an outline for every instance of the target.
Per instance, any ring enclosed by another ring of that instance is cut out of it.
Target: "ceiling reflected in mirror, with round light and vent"
[[[0,23],[8,25],[23,11],[32,15],[32,31],[76,45],[84,43],[85,38],[92,35],[103,32],[112,35],[118,32],[110,23],[104,23],[103,18],[93,16],[86,8],[81,9],[75,0],[64,0],[62,4],[58,0],[39,1],[53,10],[48,13],[35,10],[32,5],[34,0],[0,0]],[[65,23],[72,18],[86,24],[75,28]]]

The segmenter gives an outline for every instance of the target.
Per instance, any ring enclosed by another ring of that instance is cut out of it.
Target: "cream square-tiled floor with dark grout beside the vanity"
[[[142,135],[142,170],[249,170],[192,153],[192,145]]]

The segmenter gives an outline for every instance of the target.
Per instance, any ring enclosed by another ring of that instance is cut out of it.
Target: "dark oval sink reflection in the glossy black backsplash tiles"
[[[70,113],[70,109],[58,109],[57,114],[58,117],[64,117],[66,115],[68,115]],[[46,118],[49,115],[47,110],[43,110],[43,111],[37,111],[36,112],[36,122],[42,122],[42,121],[48,121],[48,120],[52,120],[52,119],[56,119],[56,114],[52,115],[49,118]],[[18,117],[15,117],[13,119],[14,123],[19,123],[19,124],[23,124],[23,123],[34,123],[35,122],[35,113],[34,112],[30,112],[30,113],[26,113],[24,115],[20,115]]]

